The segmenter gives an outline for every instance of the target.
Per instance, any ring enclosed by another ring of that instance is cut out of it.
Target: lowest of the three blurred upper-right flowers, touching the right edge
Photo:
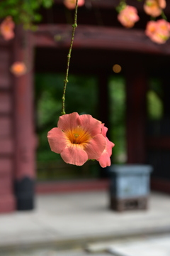
[[[166,43],[170,36],[170,23],[164,19],[149,21],[145,33],[155,43]]]

